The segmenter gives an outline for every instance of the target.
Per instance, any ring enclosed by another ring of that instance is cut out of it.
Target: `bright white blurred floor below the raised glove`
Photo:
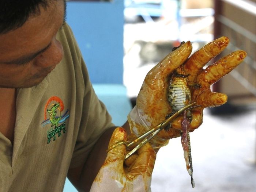
[[[212,116],[190,134],[192,188],[180,138],[171,139],[157,154],[153,192],[256,192],[256,111]]]

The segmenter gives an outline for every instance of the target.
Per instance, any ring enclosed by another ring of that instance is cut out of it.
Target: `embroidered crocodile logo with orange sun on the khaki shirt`
[[[53,96],[47,101],[44,109],[44,122],[41,123],[42,127],[50,127],[47,130],[47,144],[52,138],[55,141],[56,135],[61,137],[61,132],[63,134],[66,132],[65,121],[69,118],[69,110],[66,110],[64,114],[63,111],[64,103],[60,97]]]

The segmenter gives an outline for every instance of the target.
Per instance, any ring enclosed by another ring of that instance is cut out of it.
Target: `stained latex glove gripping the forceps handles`
[[[126,141],[125,130],[114,130],[109,147],[119,141]],[[90,192],[148,192],[151,191],[151,174],[156,154],[149,143],[138,150],[132,162],[124,164],[125,145],[110,150],[99,173],[95,177]],[[129,157],[130,158],[130,157]],[[128,159],[129,159],[128,158]]]

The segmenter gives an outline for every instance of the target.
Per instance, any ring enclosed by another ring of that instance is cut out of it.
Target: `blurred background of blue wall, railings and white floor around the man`
[[[181,41],[193,52],[227,36],[214,61],[242,49],[247,57],[212,86],[228,95],[221,107],[204,110],[190,134],[192,189],[180,138],[157,154],[153,192],[256,192],[256,0],[69,0],[74,31],[90,79],[113,122],[121,126],[135,105],[147,72]],[[67,180],[64,191],[76,191]]]

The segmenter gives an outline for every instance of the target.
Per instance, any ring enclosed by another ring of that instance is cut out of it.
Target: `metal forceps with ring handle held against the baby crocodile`
[[[157,135],[163,128],[165,128],[166,126],[168,126],[175,118],[177,118],[177,116],[179,116],[183,111],[185,110],[189,110],[191,108],[194,107],[199,107],[200,105],[195,105],[196,103],[191,103],[185,107],[183,107],[181,110],[177,111],[175,114],[173,114],[172,116],[170,116],[169,118],[167,118],[166,120],[164,120],[162,123],[158,124],[156,127],[152,128],[151,130],[147,131],[146,133],[144,133],[143,135],[141,135],[140,137],[134,139],[132,142],[130,143],[126,143],[125,141],[120,141],[117,142],[116,144],[112,145],[111,147],[109,147],[109,149],[107,150],[110,151],[112,149],[114,149],[115,147],[117,147],[118,145],[122,145],[124,144],[126,147],[130,147],[132,145],[135,145],[135,143],[140,142],[135,148],[133,148],[126,156],[125,159],[127,159],[128,157],[130,157],[133,153],[135,153],[140,147],[142,147],[143,145],[145,145],[148,141],[150,141],[153,137],[155,137],[155,135]]]

